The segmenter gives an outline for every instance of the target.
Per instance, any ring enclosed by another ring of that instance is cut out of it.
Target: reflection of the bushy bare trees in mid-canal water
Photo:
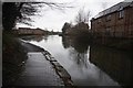
[[[79,66],[79,67],[86,67],[88,68],[88,43],[80,42],[78,38],[72,38],[69,36],[62,37],[62,45],[64,48],[69,50],[69,55],[71,59]]]

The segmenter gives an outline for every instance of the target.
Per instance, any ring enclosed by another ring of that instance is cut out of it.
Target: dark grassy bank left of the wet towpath
[[[2,34],[2,85],[11,85],[22,70],[22,62],[27,59],[27,52],[9,33]]]

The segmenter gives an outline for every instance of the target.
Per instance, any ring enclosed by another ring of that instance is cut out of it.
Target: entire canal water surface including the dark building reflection
[[[131,82],[132,63],[125,52],[90,46],[58,35],[29,36],[24,40],[49,51],[68,70],[75,86],[120,86]]]

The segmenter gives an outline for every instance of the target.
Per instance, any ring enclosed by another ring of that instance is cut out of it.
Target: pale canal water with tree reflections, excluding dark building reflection
[[[90,62],[90,46],[58,35],[24,37],[49,51],[71,75],[74,86],[119,86],[108,74]]]

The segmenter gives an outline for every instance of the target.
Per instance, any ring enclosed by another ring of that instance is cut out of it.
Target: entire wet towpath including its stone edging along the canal
[[[11,86],[73,86],[71,76],[48,51],[23,40],[19,42],[28,52],[28,59]]]

